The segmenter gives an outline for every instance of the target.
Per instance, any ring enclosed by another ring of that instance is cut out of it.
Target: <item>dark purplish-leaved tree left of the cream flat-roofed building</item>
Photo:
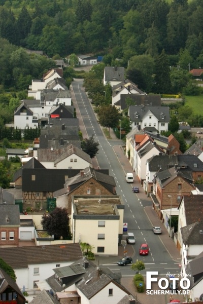
[[[42,216],[41,224],[44,230],[54,235],[55,240],[71,240],[69,215],[67,209],[56,207],[50,214]]]

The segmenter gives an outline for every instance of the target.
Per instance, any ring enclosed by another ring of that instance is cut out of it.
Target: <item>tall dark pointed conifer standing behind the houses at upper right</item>
[[[164,50],[155,59],[155,93],[167,94],[171,92],[170,65]]]

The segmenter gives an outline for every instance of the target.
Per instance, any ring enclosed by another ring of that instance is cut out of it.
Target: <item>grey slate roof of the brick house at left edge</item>
[[[20,227],[19,205],[1,205],[0,204],[0,226]],[[6,219],[9,219],[7,222]],[[1,256],[1,255],[0,255]]]

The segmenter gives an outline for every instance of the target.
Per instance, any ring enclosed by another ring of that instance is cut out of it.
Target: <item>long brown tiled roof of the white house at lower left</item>
[[[82,258],[82,251],[80,244],[74,243],[0,248],[0,256],[13,269],[20,269],[27,268],[29,264],[76,261]]]

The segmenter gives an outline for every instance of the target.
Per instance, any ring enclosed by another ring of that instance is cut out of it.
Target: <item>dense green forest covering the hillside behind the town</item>
[[[49,57],[109,54],[124,66],[134,55],[154,58],[163,49],[173,66],[187,49],[190,68],[197,68],[202,15],[202,0],[0,0],[0,36]]]

